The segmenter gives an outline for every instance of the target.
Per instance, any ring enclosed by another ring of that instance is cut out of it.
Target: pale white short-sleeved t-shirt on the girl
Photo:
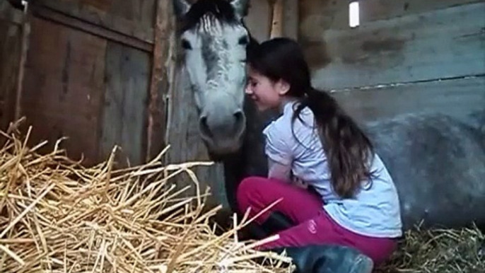
[[[265,153],[277,163],[291,165],[293,175],[312,185],[322,196],[324,209],[344,228],[364,236],[395,238],[402,236],[402,221],[396,187],[378,155],[372,165],[375,178],[364,181],[353,199],[341,199],[332,190],[327,158],[314,127],[310,108],[300,112],[291,129],[294,102],[284,105],[283,115],[271,122]],[[303,145],[302,145],[303,144]]]

